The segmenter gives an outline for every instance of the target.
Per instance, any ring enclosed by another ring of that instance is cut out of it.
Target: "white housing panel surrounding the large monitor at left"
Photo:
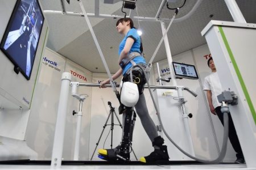
[[[1,2],[0,40],[15,3],[15,0]],[[14,64],[0,51],[0,160],[36,158],[36,153],[27,147],[24,138],[47,37],[48,24],[44,20],[30,80],[21,73],[16,74]]]

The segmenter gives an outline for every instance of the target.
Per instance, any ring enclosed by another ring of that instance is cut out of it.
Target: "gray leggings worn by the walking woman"
[[[141,119],[141,124],[144,130],[150,138],[150,141],[153,142],[154,138],[158,137],[158,131],[156,130],[156,126],[148,113],[144,94],[139,95],[139,100],[138,103],[135,105],[135,109],[136,113]],[[125,114],[126,113],[123,113],[123,125],[125,125]]]

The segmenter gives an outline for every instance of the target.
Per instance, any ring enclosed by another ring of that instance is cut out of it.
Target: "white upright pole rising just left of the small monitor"
[[[164,36],[164,33],[166,33],[166,24],[164,24],[163,21],[161,21],[160,23],[161,23],[161,28],[162,28],[163,36]],[[174,75],[174,71],[172,70],[172,54],[171,54],[171,49],[170,49],[170,45],[169,45],[169,41],[168,41],[167,35],[164,36],[164,45],[166,46],[166,54],[167,54],[168,65],[169,65],[169,68],[170,68],[171,81],[172,81],[172,84],[174,86],[177,86],[177,82],[176,82],[176,78],[175,78],[175,75]]]

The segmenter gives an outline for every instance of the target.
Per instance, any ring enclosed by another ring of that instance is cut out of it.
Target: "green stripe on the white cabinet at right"
[[[232,50],[230,49],[230,46],[229,46],[229,43],[228,43],[228,40],[226,39],[226,36],[225,36],[225,33],[223,31],[223,28],[221,26],[218,26],[218,29],[220,30],[220,33],[221,33],[221,36],[222,36],[222,39],[224,41],[224,44],[226,46],[226,49],[228,50],[228,53],[229,53],[229,57],[233,63],[233,66],[234,66],[234,69],[237,73],[237,77],[238,77],[238,80],[241,84],[241,87],[242,87],[242,90],[243,90],[243,94],[245,94],[245,98],[246,98],[246,101],[247,101],[247,104],[249,105],[249,108],[250,108],[250,111],[251,111],[251,114],[253,116],[253,119],[254,119],[254,122],[255,122],[255,125],[256,125],[256,113],[255,113],[255,109],[254,109],[254,106],[253,106],[253,103],[251,102],[251,98],[250,98],[250,95],[247,91],[247,88],[245,86],[245,82],[243,82],[243,78],[242,78],[242,75],[240,73],[240,70],[238,69],[238,66],[237,66],[237,62],[236,62],[236,59],[234,59],[234,56],[233,56],[233,53],[232,53]]]

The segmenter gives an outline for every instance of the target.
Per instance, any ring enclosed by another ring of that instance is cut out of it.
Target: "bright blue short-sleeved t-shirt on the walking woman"
[[[126,40],[127,38],[131,37],[132,39],[134,39],[134,43],[133,45],[131,46],[131,49],[129,51],[129,54],[131,52],[138,52],[138,53],[141,53],[141,38],[139,37],[138,35],[138,32],[135,28],[131,28],[128,32],[127,32],[127,35],[123,38],[123,40],[121,41],[121,43],[119,44],[119,51],[118,51],[118,55],[120,56],[123,48],[125,48],[125,43],[126,43]],[[133,59],[133,61],[135,63],[144,63],[145,65],[147,64],[144,57],[142,56],[139,56],[139,57],[135,57]],[[129,62],[125,68],[123,69],[123,75],[125,75],[126,71],[130,69],[130,67],[132,67],[133,65],[131,64],[131,62]]]

